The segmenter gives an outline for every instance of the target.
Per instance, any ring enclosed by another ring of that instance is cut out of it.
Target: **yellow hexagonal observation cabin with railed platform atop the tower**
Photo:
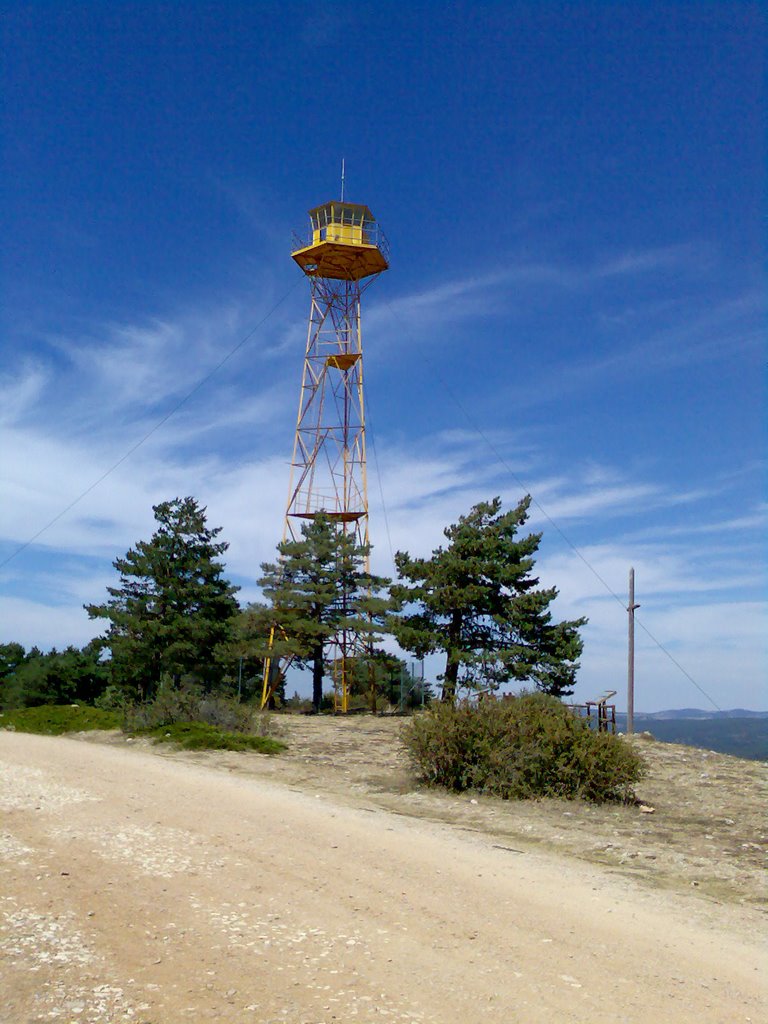
[[[309,221],[310,238],[291,254],[307,276],[360,281],[389,267],[389,246],[367,206],[324,203]]]

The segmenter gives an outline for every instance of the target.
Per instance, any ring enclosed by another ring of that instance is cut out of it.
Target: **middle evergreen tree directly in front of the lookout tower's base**
[[[279,560],[264,562],[259,580],[269,607],[249,609],[260,624],[264,654],[312,669],[312,706],[323,700],[324,649],[343,631],[373,645],[391,603],[379,596],[388,580],[365,570],[370,547],[318,515],[301,527],[300,541],[278,545]],[[272,632],[272,645],[268,637]]]

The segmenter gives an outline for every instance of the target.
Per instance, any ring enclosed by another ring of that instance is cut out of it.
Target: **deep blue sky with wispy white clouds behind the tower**
[[[292,231],[344,157],[392,249],[364,305],[375,567],[530,490],[541,579],[590,617],[580,696],[624,703],[634,565],[688,676],[766,707],[760,5],[11,2],[1,31],[0,561],[260,326],[0,569],[0,641],[93,636],[83,602],[175,496],[258,596]],[[688,676],[638,629],[638,709],[712,707]]]

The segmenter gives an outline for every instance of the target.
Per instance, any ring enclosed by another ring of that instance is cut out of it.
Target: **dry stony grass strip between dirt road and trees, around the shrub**
[[[763,762],[656,742],[646,734],[634,740],[649,767],[637,795],[638,806],[638,806],[513,803],[415,784],[397,741],[402,726],[403,720],[394,717],[275,716],[274,728],[289,743],[279,759],[184,757],[334,794],[353,806],[450,822],[525,849],[557,851],[652,887],[695,889],[705,899],[768,907],[768,765]]]

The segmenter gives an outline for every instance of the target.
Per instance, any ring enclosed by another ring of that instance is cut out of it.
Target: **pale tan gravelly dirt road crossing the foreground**
[[[3,1024],[768,1019],[748,907],[126,745],[0,777]]]

